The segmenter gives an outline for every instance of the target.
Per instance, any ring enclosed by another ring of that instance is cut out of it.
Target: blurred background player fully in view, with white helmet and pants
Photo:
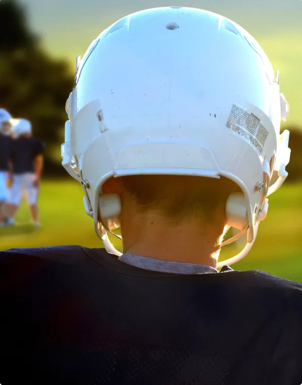
[[[11,147],[12,188],[10,202],[6,205],[9,223],[14,223],[23,192],[30,206],[33,225],[38,227],[37,197],[43,168],[44,144],[33,138],[31,123],[27,119],[18,119],[13,125],[14,140]]]

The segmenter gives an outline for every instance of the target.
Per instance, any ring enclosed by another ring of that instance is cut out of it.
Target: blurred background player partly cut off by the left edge
[[[0,226],[6,220],[3,208],[9,198],[8,174],[9,157],[11,147],[11,114],[4,108],[0,108]]]

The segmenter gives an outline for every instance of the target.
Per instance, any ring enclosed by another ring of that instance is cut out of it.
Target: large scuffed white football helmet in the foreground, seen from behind
[[[233,180],[229,227],[253,245],[267,196],[287,176],[289,105],[279,74],[257,41],[211,12],[157,8],[127,16],[101,33],[77,61],[66,103],[63,166],[81,182],[88,215],[109,252],[121,203],[102,194],[110,177],[192,175]],[[278,181],[270,186],[273,171]],[[238,238],[233,237],[223,244]]]

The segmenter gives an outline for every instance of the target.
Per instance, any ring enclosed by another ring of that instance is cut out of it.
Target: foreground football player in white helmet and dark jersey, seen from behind
[[[202,10],[135,13],[78,61],[66,110],[63,166],[108,252],[2,253],[2,364],[43,384],[302,383],[302,286],[228,266],[287,176],[289,107],[258,42]]]

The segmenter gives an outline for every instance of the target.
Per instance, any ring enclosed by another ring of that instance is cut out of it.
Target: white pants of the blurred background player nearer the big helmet
[[[14,174],[10,203],[19,206],[24,193],[28,204],[36,204],[38,198],[38,188],[33,186],[34,180],[35,175],[32,173]]]

